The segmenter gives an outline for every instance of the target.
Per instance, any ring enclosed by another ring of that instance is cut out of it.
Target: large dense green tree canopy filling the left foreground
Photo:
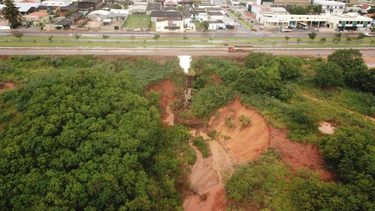
[[[128,71],[64,60],[0,95],[17,102],[1,118],[1,210],[179,210],[186,129],[163,127],[157,95],[138,94]]]

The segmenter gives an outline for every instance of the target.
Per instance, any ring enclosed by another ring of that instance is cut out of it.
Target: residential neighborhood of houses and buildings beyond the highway
[[[291,5],[280,3],[275,0],[16,0],[15,6],[20,27],[39,27],[43,31],[230,30],[251,34],[284,26],[291,30],[312,27],[321,31],[362,32],[374,28],[375,6],[368,4],[312,0],[311,4],[299,7],[312,8],[313,12],[310,9],[306,14],[296,14]],[[0,4],[1,11],[4,7],[5,4]],[[3,30],[11,29],[9,21],[0,24]]]

